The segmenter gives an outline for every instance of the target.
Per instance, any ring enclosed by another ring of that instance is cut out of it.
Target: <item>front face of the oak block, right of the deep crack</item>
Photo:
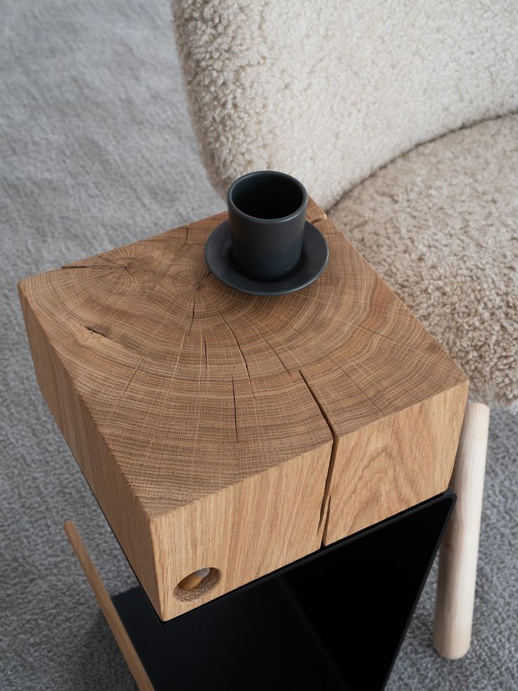
[[[324,544],[446,490],[466,393],[446,390],[339,437]]]

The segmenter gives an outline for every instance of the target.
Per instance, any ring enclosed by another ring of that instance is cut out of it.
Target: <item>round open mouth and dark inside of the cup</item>
[[[284,218],[301,208],[304,189],[289,175],[264,171],[238,180],[229,197],[237,210],[247,216]]]

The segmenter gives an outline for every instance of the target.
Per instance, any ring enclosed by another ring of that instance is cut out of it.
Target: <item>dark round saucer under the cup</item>
[[[309,221],[305,222],[301,261],[291,273],[278,281],[253,280],[239,273],[232,263],[227,220],[217,226],[205,246],[205,261],[215,277],[231,288],[250,295],[284,295],[301,290],[320,276],[327,259],[327,242],[320,230]]]

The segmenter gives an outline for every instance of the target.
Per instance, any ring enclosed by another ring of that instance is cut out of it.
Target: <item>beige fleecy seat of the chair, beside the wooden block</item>
[[[460,364],[518,411],[518,116],[423,144],[329,216]]]

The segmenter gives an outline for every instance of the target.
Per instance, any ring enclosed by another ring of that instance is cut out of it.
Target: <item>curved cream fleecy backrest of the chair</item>
[[[173,0],[213,185],[284,170],[328,208],[394,156],[518,108],[516,0]]]

